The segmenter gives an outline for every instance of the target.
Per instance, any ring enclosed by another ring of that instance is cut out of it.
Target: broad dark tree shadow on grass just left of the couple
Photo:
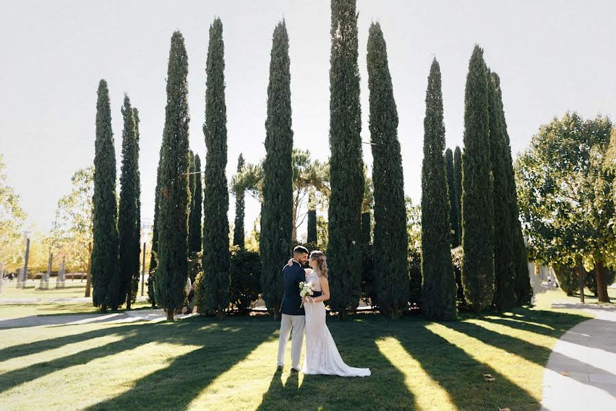
[[[196,325],[212,321],[189,320]],[[186,343],[203,347],[174,358],[166,368],[139,379],[127,392],[86,409],[140,409],[148,404],[149,410],[183,410],[218,375],[244,360],[257,346],[271,338],[274,328],[263,326],[263,322],[262,319],[244,320],[243,323],[229,321],[231,327],[214,323],[217,327],[197,330],[199,338],[191,338]],[[233,338],[222,338],[224,332],[229,332]],[[207,409],[207,404],[202,408]]]

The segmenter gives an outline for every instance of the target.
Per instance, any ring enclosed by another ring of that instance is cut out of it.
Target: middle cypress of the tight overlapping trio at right
[[[514,247],[515,229],[511,227],[512,190],[507,171],[507,155],[511,156],[505,139],[504,111],[500,99],[498,76],[489,73],[490,158],[494,201],[494,305],[498,312],[515,306]],[[508,154],[509,153],[509,154]]]

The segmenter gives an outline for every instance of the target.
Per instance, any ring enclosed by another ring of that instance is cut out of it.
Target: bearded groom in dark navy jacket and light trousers
[[[280,340],[278,342],[278,371],[282,371],[285,364],[285,349],[287,340],[293,330],[291,341],[291,371],[300,369],[300,355],[304,340],[304,327],[306,314],[301,308],[300,282],[306,281],[306,272],[303,266],[308,262],[308,250],[298,245],[293,249],[293,265],[285,265],[283,269],[283,301],[281,305],[282,320],[280,323]]]

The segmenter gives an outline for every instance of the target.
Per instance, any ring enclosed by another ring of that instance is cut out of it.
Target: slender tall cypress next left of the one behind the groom
[[[227,104],[224,101],[222,22],[209,26],[205,84],[205,190],[203,214],[203,278],[205,313],[222,318],[229,305],[229,192],[227,191]]]

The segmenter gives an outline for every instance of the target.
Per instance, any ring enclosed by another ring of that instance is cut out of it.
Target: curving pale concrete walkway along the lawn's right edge
[[[593,308],[589,308],[593,307]],[[555,303],[595,315],[554,346],[543,376],[542,411],[616,410],[616,309]]]

